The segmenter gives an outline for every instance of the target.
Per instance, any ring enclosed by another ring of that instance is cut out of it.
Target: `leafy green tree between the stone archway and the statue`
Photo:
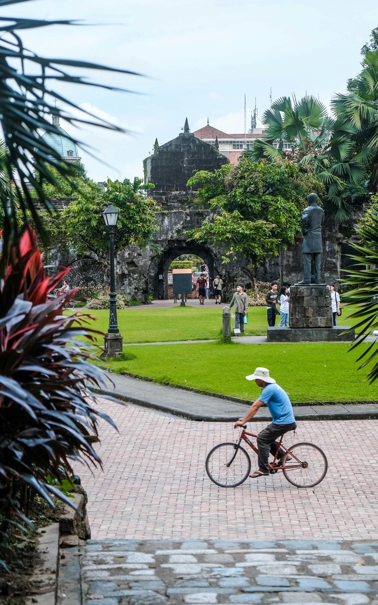
[[[202,186],[197,203],[214,214],[212,221],[187,232],[189,240],[226,244],[224,263],[243,253],[242,269],[254,288],[256,267],[294,242],[307,195],[324,194],[324,185],[313,172],[281,159],[272,163],[242,159],[237,166],[199,171],[187,185],[198,183]]]

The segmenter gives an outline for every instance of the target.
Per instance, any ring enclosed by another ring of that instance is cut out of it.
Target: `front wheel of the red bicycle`
[[[207,454],[206,473],[221,488],[236,488],[249,476],[250,457],[236,443],[220,443]]]

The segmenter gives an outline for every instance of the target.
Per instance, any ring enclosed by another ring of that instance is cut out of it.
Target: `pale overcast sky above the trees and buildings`
[[[244,131],[256,103],[262,116],[273,100],[295,93],[328,105],[359,71],[360,48],[378,26],[377,0],[36,0],[3,14],[80,19],[22,33],[25,45],[50,57],[77,58],[125,68],[146,77],[93,74],[140,94],[70,85],[83,108],[133,131],[78,133],[109,166],[80,151],[96,181],[143,176],[142,161],[155,137],[210,125]],[[60,89],[63,91],[63,89]],[[63,125],[64,126],[64,125]]]

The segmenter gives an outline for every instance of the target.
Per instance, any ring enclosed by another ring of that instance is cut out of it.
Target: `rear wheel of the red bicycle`
[[[292,457],[293,454],[299,462]],[[324,451],[314,443],[295,443],[288,448],[287,453],[282,458],[282,473],[289,483],[297,488],[313,488],[320,483],[327,474],[328,462]],[[290,468],[292,467],[292,468]]]

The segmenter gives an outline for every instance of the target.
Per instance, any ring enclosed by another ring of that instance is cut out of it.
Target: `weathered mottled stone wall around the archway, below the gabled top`
[[[69,200],[59,200],[64,206]],[[58,206],[59,207],[59,206]],[[223,276],[226,295],[230,295],[237,281],[244,284],[250,282],[240,267],[244,264],[243,255],[238,255],[236,261],[223,264],[224,250],[219,246],[208,246],[189,242],[184,232],[200,225],[204,220],[211,220],[210,211],[199,211],[195,208],[183,209],[175,204],[167,204],[166,211],[158,213],[160,225],[154,236],[152,246],[145,250],[136,247],[126,247],[116,257],[117,290],[124,292],[140,301],[148,301],[149,295],[156,298],[168,298],[168,268],[182,254],[195,254],[204,260],[209,267],[210,279],[219,271]],[[356,212],[354,220],[337,226],[330,217],[326,218],[323,230],[322,280],[325,283],[333,281],[339,287],[342,269],[350,266],[351,261],[346,254],[351,253],[350,244],[356,241],[354,224],[362,215],[362,210]],[[74,250],[61,252],[59,247],[52,246],[48,255],[48,264],[68,266],[76,260]],[[282,250],[281,254],[282,281],[294,284],[302,279],[302,238],[298,238],[293,246]],[[160,276],[162,276],[160,278]],[[258,280],[279,280],[280,259],[270,258],[257,271]]]

